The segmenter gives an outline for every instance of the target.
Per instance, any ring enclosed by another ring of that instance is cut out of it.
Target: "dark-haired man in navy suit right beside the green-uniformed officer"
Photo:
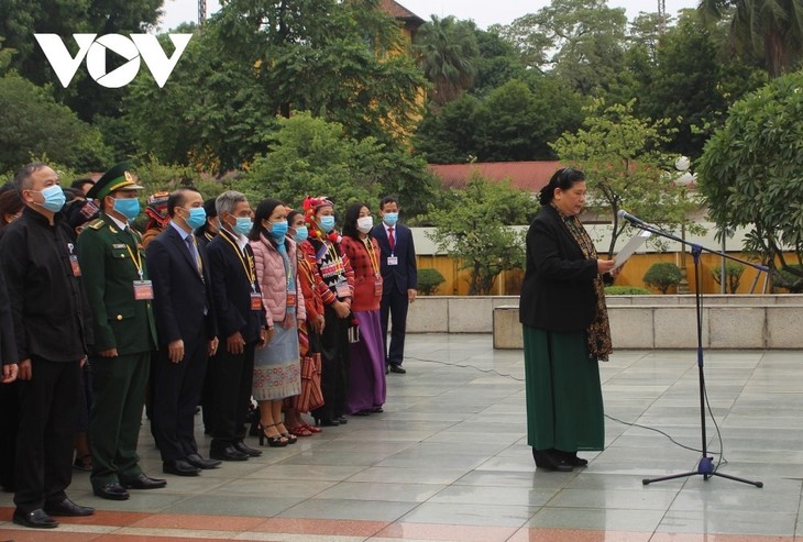
[[[158,355],[152,380],[151,427],[163,471],[196,476],[220,461],[205,460],[195,440],[195,409],[207,362],[218,349],[209,258],[193,231],[206,221],[204,199],[191,187],[167,199],[169,223],[147,245]]]

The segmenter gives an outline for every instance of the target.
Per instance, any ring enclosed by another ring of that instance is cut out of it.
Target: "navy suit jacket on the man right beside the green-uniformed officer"
[[[198,273],[187,243],[170,224],[147,245],[147,270],[153,280],[160,345],[179,339],[186,342],[198,336],[198,330],[202,329],[207,339],[218,334],[209,256],[200,244],[198,253],[202,275]]]

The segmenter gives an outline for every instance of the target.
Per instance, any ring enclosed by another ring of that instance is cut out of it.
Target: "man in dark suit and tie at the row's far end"
[[[407,308],[416,300],[418,288],[418,267],[413,232],[398,223],[398,200],[392,197],[380,201],[382,223],[374,226],[371,235],[380,243],[382,257],[382,336],[385,341],[385,373],[404,375],[405,333],[407,330]],[[387,320],[393,319],[391,347],[387,345]]]

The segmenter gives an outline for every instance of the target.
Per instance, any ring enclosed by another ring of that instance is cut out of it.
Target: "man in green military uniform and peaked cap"
[[[89,190],[87,197],[99,201],[101,213],[78,237],[78,261],[95,317],[90,479],[95,495],[112,500],[128,499],[129,488],[166,485],[146,476],[136,455],[156,330],[142,235],[130,224],[140,213],[136,190],[142,187],[129,169],[129,164],[118,164]]]

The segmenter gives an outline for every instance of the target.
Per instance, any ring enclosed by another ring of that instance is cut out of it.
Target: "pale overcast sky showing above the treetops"
[[[454,15],[458,19],[473,19],[477,26],[486,29],[491,24],[509,24],[515,19],[527,13],[535,13],[549,0],[397,0],[402,5],[420,16],[429,20],[429,15]],[[695,8],[698,0],[666,0],[667,12],[674,14],[683,8]],[[632,19],[640,11],[658,11],[658,0],[608,0],[608,5],[627,9],[628,18]],[[165,18],[162,29],[173,29],[185,21],[198,19],[197,0],[165,0]],[[207,0],[207,13],[215,13],[220,9],[218,0]]]

